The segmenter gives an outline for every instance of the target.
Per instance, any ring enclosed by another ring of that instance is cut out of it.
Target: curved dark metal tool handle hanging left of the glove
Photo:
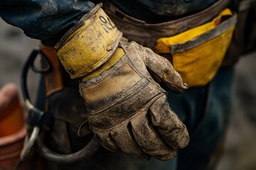
[[[40,50],[35,49],[31,52],[31,55],[28,57],[28,60],[26,61],[23,70],[21,72],[21,91],[23,95],[23,99],[25,101],[26,108],[28,109],[28,112],[31,111],[32,116],[35,114],[35,118],[33,120],[36,120],[36,122],[40,122],[41,117],[45,113],[44,111],[41,111],[40,109],[36,108],[33,106],[33,104],[30,101],[30,97],[28,94],[28,89],[27,89],[27,75],[28,75],[28,69],[31,68],[33,72],[36,73],[46,73],[50,71],[50,62],[46,59],[45,60],[48,62],[48,65],[45,69],[38,69],[34,67],[33,62],[36,60],[36,57],[38,54],[40,54]],[[43,57],[43,55],[42,55]],[[29,116],[29,115],[28,115]],[[43,142],[41,141],[39,137],[39,132],[41,130],[40,126],[37,125],[38,123],[35,123],[33,126],[33,131],[30,136],[26,137],[26,140],[24,142],[24,147],[23,150],[21,151],[21,161],[23,162],[27,157],[28,154],[31,152],[31,149],[36,143],[36,151],[41,154],[43,157],[46,159],[50,159],[53,162],[58,162],[58,163],[75,163],[75,162],[80,162],[82,159],[88,159],[90,158],[95,152],[97,152],[98,149],[100,149],[101,145],[99,140],[97,140],[97,137],[92,137],[90,142],[85,145],[80,151],[75,152],[73,154],[58,154],[53,152],[52,150],[48,149],[45,145],[43,145]]]

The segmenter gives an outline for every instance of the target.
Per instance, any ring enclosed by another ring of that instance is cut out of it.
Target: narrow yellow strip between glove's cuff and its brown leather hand
[[[101,67],[96,69],[91,74],[88,74],[86,77],[82,78],[82,81],[86,81],[88,79],[92,79],[93,77],[96,77],[100,73],[104,72],[107,69],[110,69],[114,64],[116,64],[123,56],[125,55],[125,52],[122,48],[118,47],[117,50],[114,52],[114,55],[110,58],[110,60],[107,60],[104,64],[102,64]]]

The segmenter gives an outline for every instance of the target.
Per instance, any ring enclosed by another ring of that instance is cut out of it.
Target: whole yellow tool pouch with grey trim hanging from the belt
[[[172,55],[174,69],[188,86],[204,86],[218,71],[235,29],[237,16],[226,8],[202,26],[156,41],[156,52]]]

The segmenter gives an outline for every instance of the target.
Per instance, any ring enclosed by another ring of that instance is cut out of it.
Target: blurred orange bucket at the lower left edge
[[[14,169],[26,136],[24,113],[15,84],[0,90],[0,170]]]

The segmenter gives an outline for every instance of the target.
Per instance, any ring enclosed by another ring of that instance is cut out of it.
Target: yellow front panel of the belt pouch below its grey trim
[[[188,86],[204,86],[213,79],[228,50],[234,28],[186,52],[173,55],[174,69]]]

